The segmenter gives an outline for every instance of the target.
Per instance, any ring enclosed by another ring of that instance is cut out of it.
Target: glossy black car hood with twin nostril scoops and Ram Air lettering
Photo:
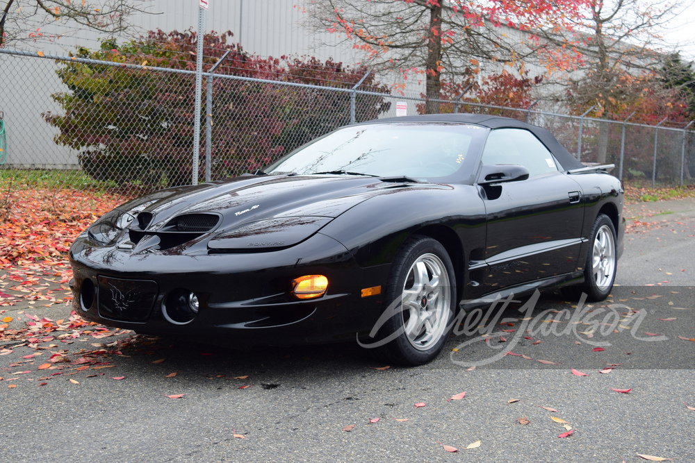
[[[129,227],[133,251],[181,244],[186,233],[196,241],[204,235],[208,249],[259,251],[293,246],[372,196],[424,185],[367,176],[245,176],[163,190],[117,209],[138,212]],[[149,239],[154,235],[160,239]]]

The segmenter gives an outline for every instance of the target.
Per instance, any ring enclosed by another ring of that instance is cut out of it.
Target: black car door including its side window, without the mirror
[[[558,169],[533,133],[498,128],[489,133],[483,165],[522,165],[525,180],[486,185],[486,289],[509,287],[574,271],[582,243],[580,185]],[[484,292],[487,292],[483,290]]]

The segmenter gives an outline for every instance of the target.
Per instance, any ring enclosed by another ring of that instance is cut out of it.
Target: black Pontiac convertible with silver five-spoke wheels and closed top
[[[609,294],[625,229],[610,167],[584,167],[548,131],[503,117],[339,128],[265,171],[104,214],[70,249],[74,305],[137,332],[358,339],[423,364],[471,301],[562,285]]]

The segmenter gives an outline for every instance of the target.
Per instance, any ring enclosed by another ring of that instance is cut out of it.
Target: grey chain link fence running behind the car
[[[62,169],[128,194],[255,171],[339,126],[416,115],[425,100],[364,90],[203,73],[193,178],[195,71],[0,49],[0,169]],[[582,162],[652,185],[693,183],[694,133],[531,109],[439,101],[440,112],[543,126]],[[5,139],[3,139],[5,140]]]

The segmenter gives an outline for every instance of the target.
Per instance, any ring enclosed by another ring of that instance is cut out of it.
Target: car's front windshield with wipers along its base
[[[350,126],[300,147],[265,171],[443,178],[461,169],[484,135],[484,128],[464,124]]]

